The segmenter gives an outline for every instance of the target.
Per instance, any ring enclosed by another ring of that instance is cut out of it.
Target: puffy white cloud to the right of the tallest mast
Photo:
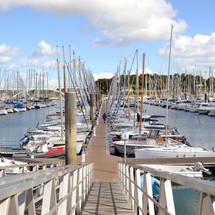
[[[160,50],[164,55],[166,48]],[[172,65],[181,69],[206,69],[215,67],[215,33],[197,34],[194,37],[178,36],[173,38]]]

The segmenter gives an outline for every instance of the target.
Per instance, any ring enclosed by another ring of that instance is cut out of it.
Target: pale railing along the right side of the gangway
[[[159,171],[146,166],[137,167],[125,164],[123,161],[118,163],[118,173],[120,186],[135,214],[175,215],[173,183],[199,191],[199,215],[215,214],[215,182]],[[160,181],[158,198],[153,196],[152,176]],[[142,185],[141,177],[144,177]]]

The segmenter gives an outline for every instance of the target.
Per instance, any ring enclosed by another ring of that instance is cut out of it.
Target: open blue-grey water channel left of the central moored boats
[[[46,115],[55,113],[56,107],[40,108],[20,113],[0,115],[0,145],[19,146],[19,141],[29,129],[45,121]]]

